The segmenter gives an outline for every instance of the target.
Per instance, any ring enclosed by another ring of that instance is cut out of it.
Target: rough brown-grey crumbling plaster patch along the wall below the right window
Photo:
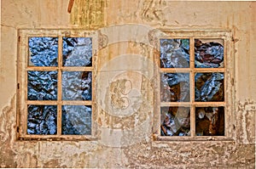
[[[255,168],[254,149],[254,144],[223,142],[140,143],[124,149],[128,159],[128,165],[125,167]],[[205,161],[208,161],[207,164]]]

